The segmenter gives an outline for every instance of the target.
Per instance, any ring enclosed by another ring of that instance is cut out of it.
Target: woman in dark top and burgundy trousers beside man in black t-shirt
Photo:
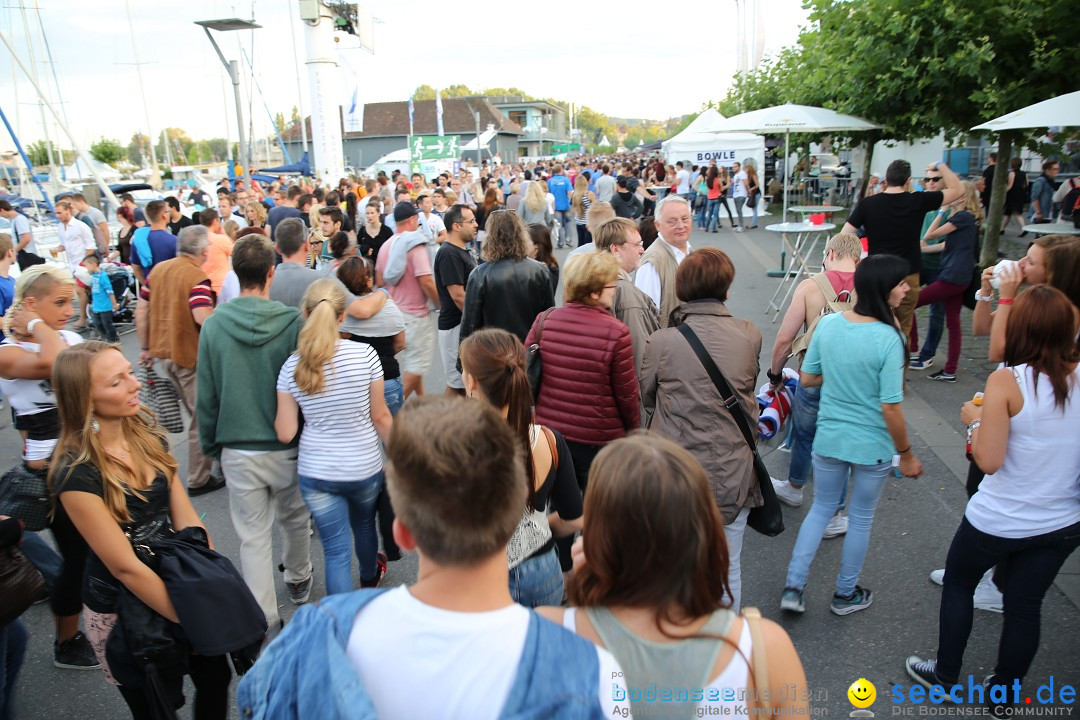
[[[922,236],[922,252],[941,253],[942,260],[937,280],[919,290],[919,301],[915,305],[921,308],[931,302],[945,304],[948,355],[945,367],[930,375],[931,380],[945,382],[956,382],[956,367],[960,362],[960,307],[963,304],[963,294],[971,284],[972,273],[975,270],[978,228],[983,222],[983,206],[974,184],[962,182],[961,186],[963,194],[941,208]],[[943,222],[950,208],[954,210],[951,217]],[[944,240],[936,245],[927,244],[927,241],[937,237]],[[920,359],[930,358],[920,356]]]

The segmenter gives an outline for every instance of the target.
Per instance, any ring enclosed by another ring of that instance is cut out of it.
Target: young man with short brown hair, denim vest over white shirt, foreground
[[[419,580],[301,608],[240,683],[243,716],[621,715],[611,654],[510,597],[507,542],[527,490],[510,425],[485,403],[421,397],[387,450],[394,539],[419,554]]]

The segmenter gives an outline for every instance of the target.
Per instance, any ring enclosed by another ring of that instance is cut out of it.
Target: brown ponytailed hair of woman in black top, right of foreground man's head
[[[532,390],[525,371],[525,345],[516,335],[499,328],[485,328],[461,341],[461,369],[476,380],[484,397],[497,409],[507,408],[507,423],[524,451],[528,502],[536,495],[536,467],[532,465]]]

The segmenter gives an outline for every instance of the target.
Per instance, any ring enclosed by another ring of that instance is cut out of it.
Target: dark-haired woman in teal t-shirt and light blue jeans
[[[843,502],[849,475],[849,527],[831,609],[847,615],[868,608],[874,594],[858,584],[859,574],[893,456],[900,454],[904,475],[922,474],[900,407],[907,350],[893,316],[907,295],[904,279],[908,271],[907,260],[894,255],[875,255],[860,262],[854,309],[822,317],[802,361],[802,384],[821,385],[813,441],[814,493],[787,566],[780,600],[783,610],[806,610],[802,588],[810,563],[825,526]]]

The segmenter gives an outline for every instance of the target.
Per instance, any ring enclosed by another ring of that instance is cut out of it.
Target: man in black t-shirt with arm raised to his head
[[[922,219],[930,210],[948,205],[963,194],[963,186],[948,165],[931,163],[928,169],[941,172],[944,187],[941,191],[908,192],[912,179],[912,164],[906,160],[894,160],[885,173],[886,189],[876,195],[863,199],[848,216],[841,232],[858,233],[866,230],[865,236],[870,255],[890,254],[907,260],[910,266],[907,276],[908,289],[904,301],[896,308],[896,320],[907,337],[912,329],[912,315],[919,299],[919,270],[922,268]]]

